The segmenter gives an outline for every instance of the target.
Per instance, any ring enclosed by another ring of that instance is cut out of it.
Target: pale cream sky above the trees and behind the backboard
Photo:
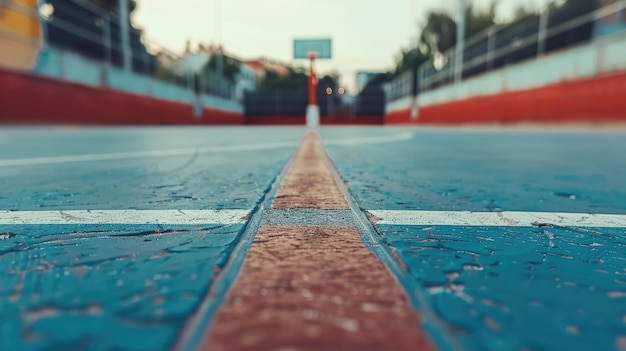
[[[488,6],[493,0],[473,0]],[[547,0],[498,0],[497,20],[520,4],[539,7]],[[187,40],[221,43],[243,60],[261,56],[293,60],[295,38],[330,38],[333,58],[319,60],[320,74],[336,72],[348,92],[355,91],[357,71],[386,71],[401,49],[419,35],[419,25],[433,9],[458,9],[458,0],[138,0],[135,26],[154,43],[176,53]]]

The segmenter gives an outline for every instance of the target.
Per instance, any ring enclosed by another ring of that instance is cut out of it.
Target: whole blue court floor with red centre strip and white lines
[[[626,348],[622,131],[0,133],[0,349]]]

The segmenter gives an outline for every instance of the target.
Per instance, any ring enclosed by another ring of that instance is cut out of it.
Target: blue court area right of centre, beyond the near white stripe
[[[322,129],[324,138],[404,128]],[[384,145],[328,145],[368,210],[626,214],[624,130],[425,128]]]

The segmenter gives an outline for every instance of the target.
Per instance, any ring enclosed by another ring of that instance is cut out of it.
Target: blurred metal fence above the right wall
[[[589,5],[589,3],[583,3]],[[581,15],[580,8],[563,6],[544,9],[513,23],[496,25],[465,41],[463,59],[457,62],[456,49],[436,55],[430,61],[407,74],[395,78],[387,85],[387,100],[393,101],[406,96],[436,89],[455,82],[455,73],[460,79],[482,74],[513,63],[534,59],[550,52],[594,39],[596,25],[605,18],[622,18],[626,23],[626,0],[619,0],[600,9],[592,9]],[[460,62],[462,61],[462,62]]]

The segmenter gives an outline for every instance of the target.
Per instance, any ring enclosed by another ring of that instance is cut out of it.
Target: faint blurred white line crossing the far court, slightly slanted
[[[330,139],[325,141],[329,145],[364,145],[364,144],[380,144],[391,143],[413,138],[413,133],[405,132],[401,134],[368,137],[368,138],[349,138],[349,139]],[[276,142],[265,144],[249,144],[249,145],[232,145],[232,146],[215,146],[215,147],[199,147],[184,149],[168,149],[168,150],[148,150],[148,151],[131,151],[131,152],[113,152],[103,154],[84,154],[84,155],[64,155],[64,156],[48,156],[48,157],[29,157],[0,160],[0,167],[15,166],[37,166],[58,163],[76,163],[76,162],[94,162],[94,161],[111,161],[126,160],[135,158],[154,158],[154,157],[171,157],[185,156],[194,154],[207,154],[218,152],[239,152],[239,151],[259,151],[282,149],[298,146],[299,141]]]

